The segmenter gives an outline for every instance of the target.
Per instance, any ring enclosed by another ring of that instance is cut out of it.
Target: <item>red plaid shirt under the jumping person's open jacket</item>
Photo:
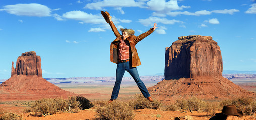
[[[121,40],[119,43],[118,59],[126,60],[130,58],[130,44],[128,40]]]

